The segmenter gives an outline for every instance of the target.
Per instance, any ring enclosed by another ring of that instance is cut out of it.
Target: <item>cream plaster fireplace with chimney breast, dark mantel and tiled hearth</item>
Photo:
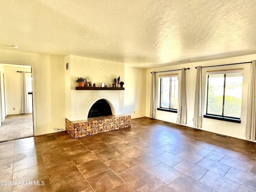
[[[124,77],[124,64],[73,55],[66,56],[64,61],[70,66],[65,70],[66,131],[70,136],[81,138],[130,127],[131,117],[124,114],[124,90],[108,89],[115,77]],[[75,80],[85,73],[94,79],[96,88],[76,90]],[[100,82],[105,82],[108,88],[101,88]],[[111,115],[101,112],[99,115],[99,110],[94,110],[93,115],[89,112],[95,102],[101,99],[109,104]]]

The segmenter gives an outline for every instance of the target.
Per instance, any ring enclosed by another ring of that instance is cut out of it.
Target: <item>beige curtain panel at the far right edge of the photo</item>
[[[247,119],[245,136],[247,140],[255,141],[256,133],[256,60],[252,61],[247,100]]]

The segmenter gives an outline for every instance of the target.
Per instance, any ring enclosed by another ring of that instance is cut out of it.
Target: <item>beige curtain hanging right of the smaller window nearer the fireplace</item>
[[[180,80],[180,97],[176,123],[186,125],[187,123],[187,102],[186,102],[186,70],[182,68]]]

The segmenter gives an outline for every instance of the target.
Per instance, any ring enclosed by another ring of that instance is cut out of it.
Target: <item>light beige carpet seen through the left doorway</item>
[[[34,136],[32,114],[8,115],[0,127],[0,142]]]

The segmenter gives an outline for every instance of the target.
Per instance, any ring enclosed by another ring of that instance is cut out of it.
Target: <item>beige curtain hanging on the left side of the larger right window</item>
[[[197,66],[196,71],[196,93],[194,104],[194,127],[202,127],[202,70]]]

